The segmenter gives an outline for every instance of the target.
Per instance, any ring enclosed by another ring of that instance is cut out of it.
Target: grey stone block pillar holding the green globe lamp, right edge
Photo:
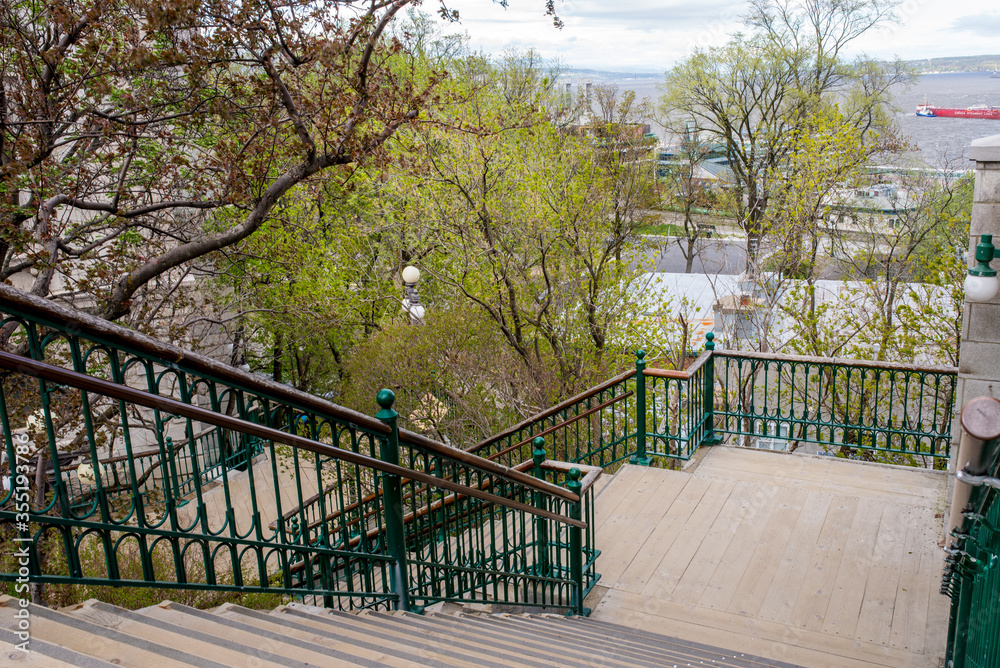
[[[1000,135],[976,139],[969,148],[976,162],[976,187],[969,229],[969,266],[975,264],[979,235],[992,234],[1000,241]],[[1000,260],[993,264],[1000,265]],[[962,347],[958,363],[953,432],[959,435],[958,414],[970,399],[1000,399],[1000,297],[981,304],[965,303]],[[957,442],[957,439],[956,439]]]

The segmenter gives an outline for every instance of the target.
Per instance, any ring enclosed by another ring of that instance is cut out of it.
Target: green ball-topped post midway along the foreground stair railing
[[[392,409],[396,395],[381,390],[375,397],[381,410],[375,417],[389,427],[389,435],[381,439],[381,459],[399,465],[399,414]],[[396,610],[410,609],[409,564],[406,559],[406,536],[403,532],[403,495],[400,479],[392,473],[382,474],[382,513],[385,522],[386,549],[395,561],[389,573],[392,591],[396,594]]]

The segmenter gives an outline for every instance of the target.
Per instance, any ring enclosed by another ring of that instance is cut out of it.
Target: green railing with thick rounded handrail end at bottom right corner
[[[946,665],[992,668],[1000,665],[1000,401],[970,401],[962,427],[941,580],[951,597]]]

